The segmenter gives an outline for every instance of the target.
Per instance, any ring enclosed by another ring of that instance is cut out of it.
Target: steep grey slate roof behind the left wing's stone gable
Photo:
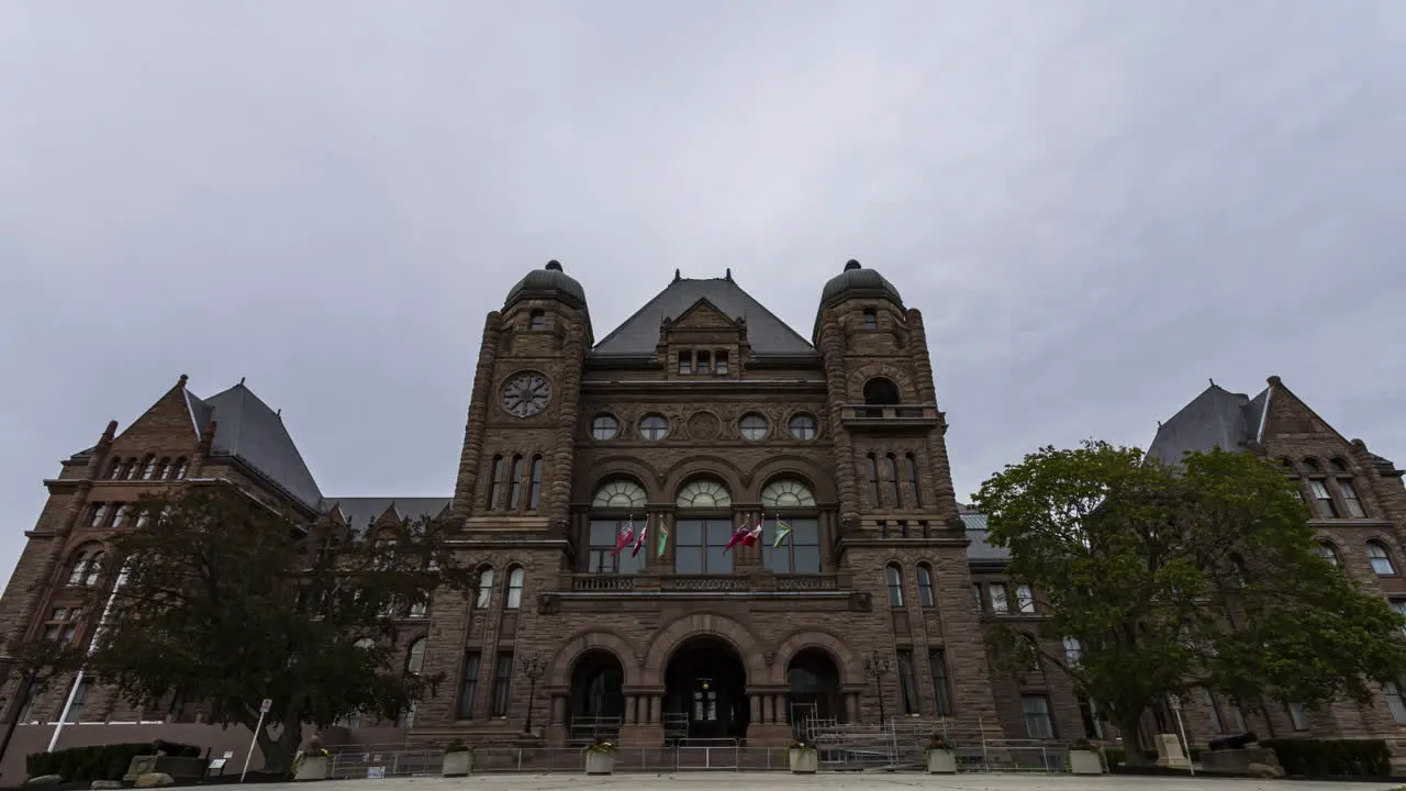
[[[211,456],[239,459],[304,505],[321,510],[322,491],[284,428],[283,418],[245,387],[243,381],[209,398],[197,398],[187,390],[186,398],[197,434],[205,431],[211,418],[219,424],[211,442]]]

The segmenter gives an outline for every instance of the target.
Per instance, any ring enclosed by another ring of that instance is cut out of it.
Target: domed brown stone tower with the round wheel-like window
[[[488,314],[454,487],[470,532],[564,526],[592,343],[585,290],[555,260]]]

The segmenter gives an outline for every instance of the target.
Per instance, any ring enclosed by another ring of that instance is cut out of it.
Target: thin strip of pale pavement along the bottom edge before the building
[[[354,791],[555,791],[605,788],[610,791],[770,791],[773,788],[845,788],[873,791],[1386,791],[1400,783],[1305,783],[1247,778],[1168,778],[1168,777],[1073,777],[1049,774],[887,774],[887,773],[688,773],[688,774],[485,774],[444,780],[437,777],[398,780],[354,780]],[[339,785],[340,787],[340,785]],[[285,791],[294,785],[260,785],[267,791]],[[297,785],[307,791],[307,785]],[[352,791],[352,790],[349,790]]]

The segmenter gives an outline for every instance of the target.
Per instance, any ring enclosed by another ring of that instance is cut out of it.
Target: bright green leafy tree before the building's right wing
[[[993,640],[1012,662],[1042,654],[1129,739],[1170,695],[1316,708],[1368,702],[1372,681],[1406,673],[1406,621],[1315,552],[1295,484],[1251,453],[1164,466],[1105,442],[1043,448],[973,504],[1047,615],[1038,635],[998,626]],[[1045,647],[1064,638],[1077,662]]]

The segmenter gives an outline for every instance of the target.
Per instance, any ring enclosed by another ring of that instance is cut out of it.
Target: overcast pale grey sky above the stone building
[[[0,567],[59,459],[240,377],[447,495],[484,314],[686,277],[924,311],[956,490],[1270,374],[1406,462],[1406,3],[0,1]]]

